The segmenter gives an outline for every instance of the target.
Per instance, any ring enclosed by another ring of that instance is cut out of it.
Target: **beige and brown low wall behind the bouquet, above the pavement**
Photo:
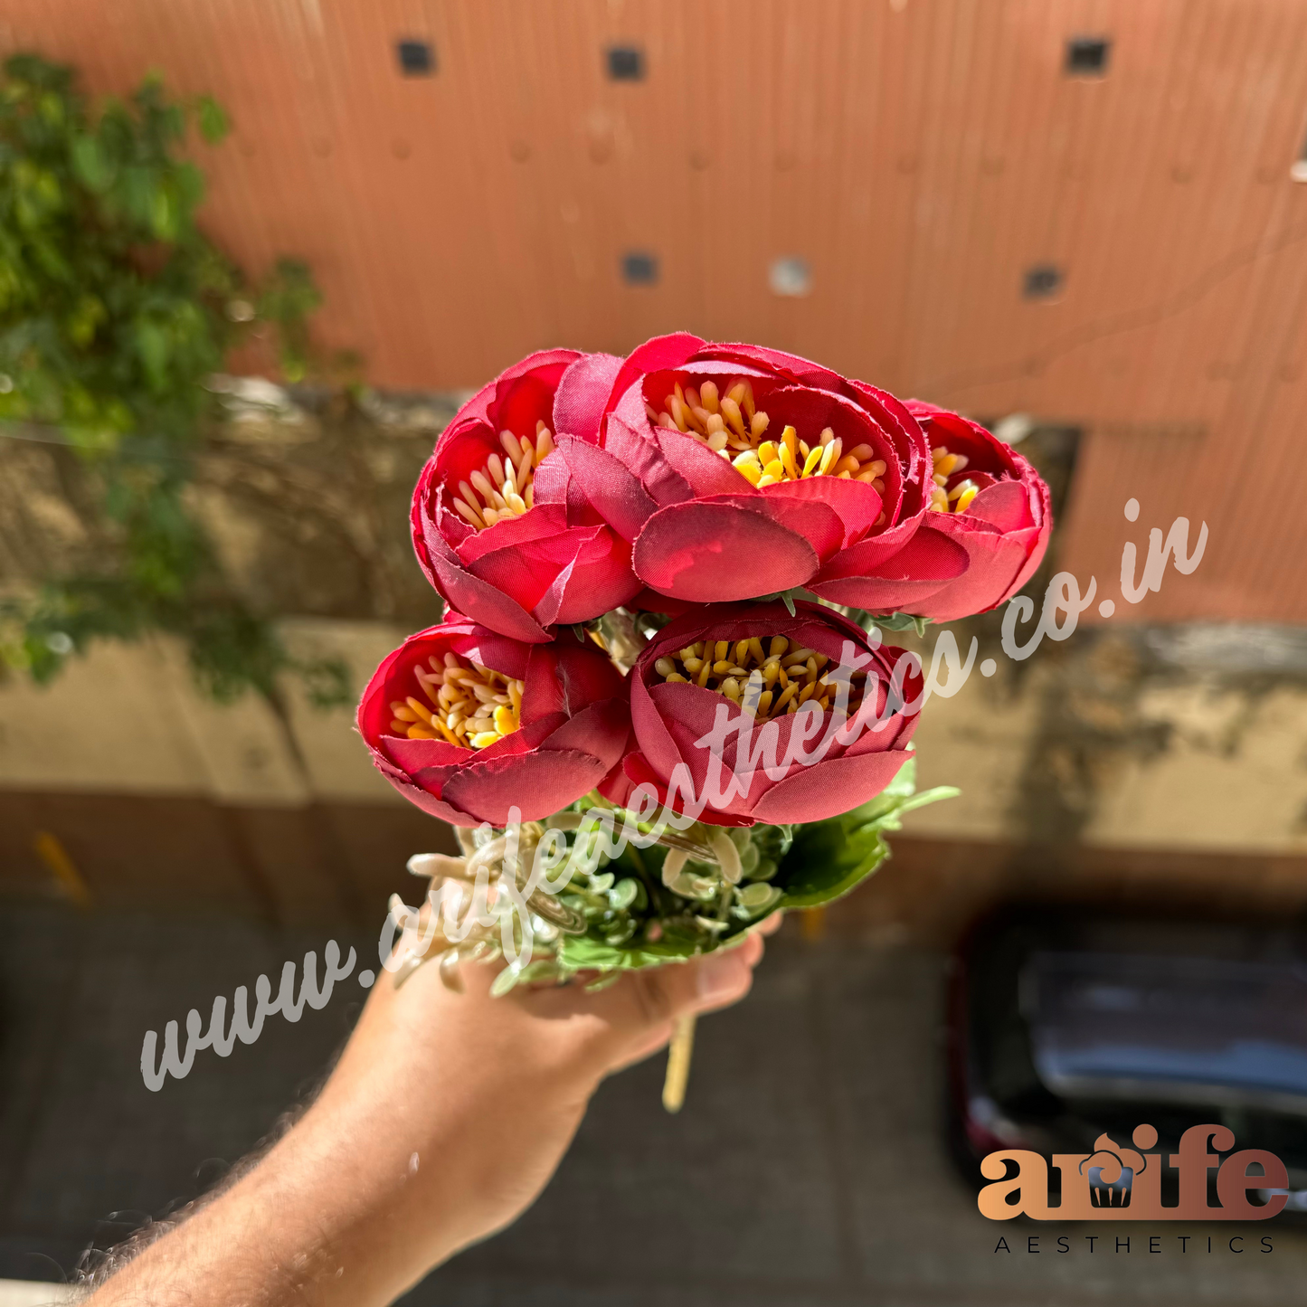
[[[1307,894],[1299,673],[1182,665],[1119,634],[1078,635],[1014,664],[984,620],[972,625],[978,664],[993,654],[997,673],[933,698],[916,735],[921,784],[955,784],[962,797],[914,813],[897,840],[901,853],[920,846],[906,856],[927,877],[970,868],[950,890],[957,903],[1010,884],[1017,863],[1043,867],[1046,889],[1059,877],[1138,886],[1158,876],[1210,889],[1238,864],[1259,894]],[[325,620],[285,631],[345,657],[356,685],[404,634]],[[0,686],[0,886],[59,889],[34,844],[44,831],[99,901],[167,894],[269,919],[378,915],[406,886],[408,855],[447,846],[448,831],[380,779],[348,711],[293,697],[289,727],[293,741],[254,697],[205,701],[162,640],[97,647],[48,689],[12,678]],[[897,874],[885,873],[891,897]]]

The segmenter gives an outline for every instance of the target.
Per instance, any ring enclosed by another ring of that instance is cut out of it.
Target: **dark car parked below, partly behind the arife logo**
[[[1005,907],[955,950],[949,1110],[978,1185],[997,1149],[1093,1153],[1146,1121],[1171,1153],[1216,1123],[1277,1154],[1307,1213],[1307,931]]]

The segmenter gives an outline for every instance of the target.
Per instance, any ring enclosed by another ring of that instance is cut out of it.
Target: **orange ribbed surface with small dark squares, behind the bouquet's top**
[[[1065,76],[1076,35],[1111,39],[1106,77]],[[434,77],[399,74],[403,38]],[[613,43],[643,81],[606,77]],[[1133,616],[1307,621],[1300,0],[8,0],[0,44],[223,101],[212,231],[250,267],[307,257],[378,384],[766,341],[1084,423],[1064,559],[1100,595],[1128,497],[1136,538],[1212,531]],[[623,285],[626,251],[656,286]],[[792,255],[806,298],[769,289]],[[1042,263],[1055,302],[1022,297]]]

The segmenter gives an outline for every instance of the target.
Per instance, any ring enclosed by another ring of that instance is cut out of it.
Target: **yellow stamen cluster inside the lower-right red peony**
[[[835,702],[838,686],[826,680],[830,659],[797,640],[772,635],[763,640],[695,640],[654,664],[668,685],[699,685],[724,694],[757,718],[797,712],[816,701],[825,712]],[[831,669],[834,670],[834,668]],[[850,682],[848,712],[856,711],[867,687],[867,673],[855,672]]]

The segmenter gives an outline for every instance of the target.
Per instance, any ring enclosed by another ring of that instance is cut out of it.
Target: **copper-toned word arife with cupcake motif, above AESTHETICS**
[[[1289,1172],[1274,1153],[1244,1149],[1223,1161],[1218,1153],[1234,1148],[1234,1134],[1223,1125],[1193,1125],[1180,1136],[1180,1150],[1165,1158],[1149,1153],[1157,1144],[1151,1125],[1137,1125],[1134,1148],[1121,1148],[1099,1134],[1093,1153],[1055,1153],[1061,1174],[1061,1201],[1048,1204],[1048,1163],[1039,1153],[1001,1149],[980,1163],[987,1184],[976,1200],[991,1221],[1027,1216],[1035,1221],[1265,1221],[1277,1216],[1289,1199]],[[1216,1153],[1208,1151],[1208,1141]],[[1138,1151],[1136,1151],[1136,1149]],[[1162,1204],[1162,1170],[1179,1175],[1179,1201]],[[1008,1174],[1008,1162],[1017,1171]],[[1208,1205],[1208,1171],[1217,1171],[1219,1206]],[[1255,1171],[1255,1167],[1260,1170]],[[1249,1174],[1251,1172],[1251,1174]],[[1248,1199],[1249,1189],[1270,1191],[1263,1204]],[[1278,1191],[1278,1192],[1276,1192]]]

